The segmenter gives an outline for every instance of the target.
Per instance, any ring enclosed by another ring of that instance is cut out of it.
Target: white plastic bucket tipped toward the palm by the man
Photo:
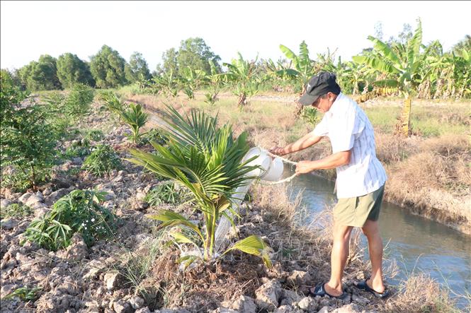
[[[259,157],[252,160],[249,165],[259,165],[261,169],[253,170],[247,175],[257,176],[269,182],[279,180],[283,175],[283,161],[280,158],[272,159],[265,150],[259,147],[251,148],[249,152],[246,153],[243,160],[249,160],[256,155],[259,155]]]

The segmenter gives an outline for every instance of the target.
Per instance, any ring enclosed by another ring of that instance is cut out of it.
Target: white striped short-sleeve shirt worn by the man
[[[376,158],[373,126],[355,101],[339,93],[313,133],[329,137],[332,153],[351,150],[350,163],[336,168],[337,198],[363,196],[385,184],[387,176]]]

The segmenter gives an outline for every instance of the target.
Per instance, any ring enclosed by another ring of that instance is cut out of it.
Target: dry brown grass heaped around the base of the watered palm
[[[142,284],[146,290],[156,288],[155,307],[190,309],[208,312],[221,302],[236,300],[241,295],[254,296],[265,273],[258,258],[242,254],[242,260],[222,261],[179,271],[179,252],[171,249],[154,261],[152,276]]]

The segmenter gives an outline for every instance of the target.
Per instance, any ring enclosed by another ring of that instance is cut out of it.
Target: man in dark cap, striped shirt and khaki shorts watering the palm
[[[356,286],[376,297],[386,297],[388,290],[382,280],[382,239],[378,217],[386,172],[375,154],[375,136],[365,112],[357,103],[341,93],[333,73],[319,73],[307,84],[299,100],[302,105],[312,105],[324,113],[322,121],[307,134],[284,148],[270,151],[285,155],[300,151],[329,137],[332,154],[314,161],[300,161],[297,175],[313,170],[336,168],[337,198],[334,207],[334,244],[331,251],[331,277],[310,289],[312,295],[329,295],[344,299],[341,279],[348,258],[351,230],[358,227],[368,238],[372,266],[371,277]]]

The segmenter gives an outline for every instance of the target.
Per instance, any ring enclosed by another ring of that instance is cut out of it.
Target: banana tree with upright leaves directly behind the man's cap
[[[288,47],[280,45],[280,50],[293,63],[293,69],[284,69],[280,74],[290,76],[297,81],[297,85],[301,88],[300,96],[306,91],[306,85],[309,79],[316,73],[314,62],[309,57],[309,50],[306,42],[303,40],[300,44],[300,53],[296,55]],[[297,105],[296,116],[299,117],[302,111],[302,105]]]

